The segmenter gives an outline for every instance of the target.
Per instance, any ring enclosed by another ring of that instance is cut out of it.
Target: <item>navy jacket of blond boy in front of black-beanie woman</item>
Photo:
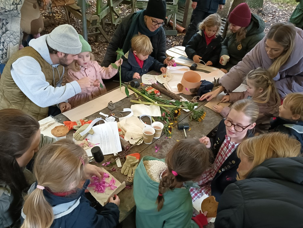
[[[147,74],[147,72],[151,70],[161,72],[160,69],[162,67],[165,67],[165,65],[149,55],[148,58],[144,60],[143,67],[141,68],[137,63],[131,48],[128,51],[128,55],[126,53],[123,58],[123,63],[121,66],[121,79],[122,81],[132,81],[136,72],[142,76],[142,74]]]

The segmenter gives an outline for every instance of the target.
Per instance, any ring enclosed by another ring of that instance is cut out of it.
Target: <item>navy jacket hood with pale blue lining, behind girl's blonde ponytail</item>
[[[82,190],[78,191],[76,194],[71,195],[70,197],[59,197],[50,193],[48,190],[44,189],[43,194],[48,201],[48,203],[52,206],[53,213],[55,219],[60,218],[62,216],[71,213],[78,205],[80,204],[81,195],[84,194],[85,189],[89,184],[89,180],[86,180]],[[37,182],[33,183],[32,186],[28,190],[28,194],[35,190],[37,187]],[[23,213],[23,208],[21,212],[21,216],[25,219],[26,215]]]

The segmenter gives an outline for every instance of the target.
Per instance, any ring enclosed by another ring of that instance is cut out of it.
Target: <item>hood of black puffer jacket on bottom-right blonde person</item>
[[[280,157],[265,160],[246,179],[266,178],[303,185],[303,157]]]

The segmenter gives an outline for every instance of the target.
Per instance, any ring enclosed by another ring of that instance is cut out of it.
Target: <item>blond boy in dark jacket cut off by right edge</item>
[[[269,131],[280,131],[294,136],[301,143],[303,154],[303,94],[286,95],[279,107],[279,116],[270,122]]]

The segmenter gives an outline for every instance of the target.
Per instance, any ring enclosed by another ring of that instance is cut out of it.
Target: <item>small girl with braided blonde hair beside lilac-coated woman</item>
[[[262,68],[250,71],[246,76],[247,91],[230,92],[222,97],[221,102],[235,102],[241,99],[252,99],[259,106],[259,116],[256,121],[258,128],[268,129],[271,117],[278,116],[280,98],[275,88],[271,74]],[[229,107],[213,105],[216,112],[226,117]],[[261,126],[260,126],[261,125]]]

